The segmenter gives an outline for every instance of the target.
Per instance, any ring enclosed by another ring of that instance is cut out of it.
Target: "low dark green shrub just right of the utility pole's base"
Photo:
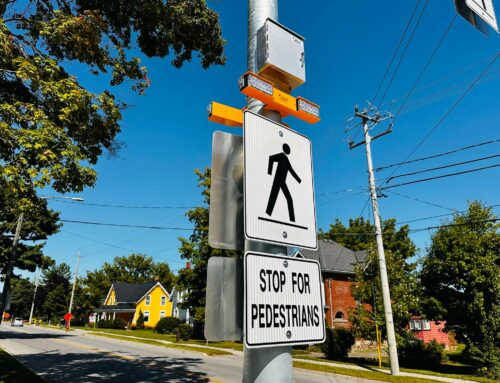
[[[402,366],[411,368],[435,368],[446,360],[444,346],[435,340],[424,343],[409,334],[398,341],[398,358]]]

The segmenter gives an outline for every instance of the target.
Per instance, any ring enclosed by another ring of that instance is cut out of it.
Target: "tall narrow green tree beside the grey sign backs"
[[[195,170],[198,186],[202,189],[205,206],[189,210],[186,215],[194,224],[193,234],[189,238],[179,238],[181,257],[191,263],[191,268],[181,269],[178,276],[178,288],[186,291],[183,308],[188,308],[197,322],[205,320],[205,294],[207,287],[207,265],[210,257],[234,256],[235,251],[214,249],[208,245],[208,216],[210,207],[210,168]]]

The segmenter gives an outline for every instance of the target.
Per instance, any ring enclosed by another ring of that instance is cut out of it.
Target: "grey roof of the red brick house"
[[[318,250],[303,249],[300,252],[305,258],[319,261],[321,271],[342,274],[355,274],[355,266],[363,264],[368,256],[366,250],[353,251],[326,239],[318,241]]]

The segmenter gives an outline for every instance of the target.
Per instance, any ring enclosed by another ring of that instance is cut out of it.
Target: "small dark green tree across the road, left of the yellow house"
[[[52,265],[42,273],[37,302],[46,320],[59,321],[68,312],[71,271],[66,263]]]

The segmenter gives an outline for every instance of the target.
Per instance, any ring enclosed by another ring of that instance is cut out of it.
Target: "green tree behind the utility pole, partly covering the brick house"
[[[417,248],[409,237],[407,225],[396,228],[396,220],[388,219],[382,222],[382,235],[391,289],[392,312],[394,327],[402,334],[412,314],[420,313],[420,287],[416,263],[411,262]],[[385,333],[385,318],[383,299],[376,252],[375,227],[364,218],[350,219],[345,226],[336,220],[327,232],[320,236],[340,243],[355,251],[368,252],[364,264],[356,267],[356,277],[351,286],[354,299],[359,303],[351,313],[351,321],[356,336],[365,339],[376,339],[374,313],[376,309],[377,323]]]

